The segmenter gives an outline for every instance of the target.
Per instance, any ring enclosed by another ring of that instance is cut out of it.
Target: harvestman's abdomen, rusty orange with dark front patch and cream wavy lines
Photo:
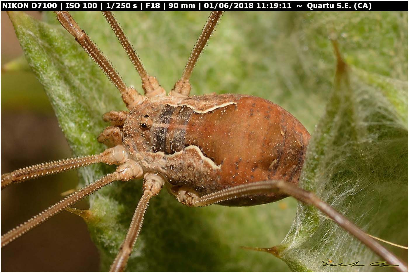
[[[150,112],[158,113],[149,131],[151,152],[164,153],[157,160],[164,160],[160,171],[172,185],[203,196],[257,181],[298,183],[310,134],[279,105],[247,95],[206,95]],[[221,204],[251,206],[283,197],[260,194]]]

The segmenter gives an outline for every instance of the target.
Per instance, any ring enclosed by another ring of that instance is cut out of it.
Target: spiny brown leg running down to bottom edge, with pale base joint
[[[128,258],[138,238],[139,232],[144,221],[145,211],[148,208],[149,200],[151,197],[157,195],[162,186],[164,180],[159,175],[154,173],[147,173],[144,177],[143,193],[141,199],[139,199],[138,205],[135,209],[135,213],[132,217],[130,227],[126,233],[124,242],[119,248],[119,252],[114,262],[111,265],[110,272],[122,272],[126,267]]]

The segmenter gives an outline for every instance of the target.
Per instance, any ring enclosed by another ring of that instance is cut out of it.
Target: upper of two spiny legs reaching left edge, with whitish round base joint
[[[100,154],[41,163],[2,175],[1,189],[10,186],[13,183],[20,183],[22,181],[37,177],[65,172],[67,170],[88,166],[94,163],[103,162],[108,164],[117,164],[124,163],[126,159],[128,159],[128,157],[125,148],[122,145],[117,145],[114,148],[106,149]]]

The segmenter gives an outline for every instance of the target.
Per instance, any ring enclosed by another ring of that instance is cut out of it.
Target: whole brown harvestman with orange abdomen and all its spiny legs
[[[222,14],[213,11],[187,61],[182,77],[166,95],[144,70],[117,21],[103,12],[142,79],[145,96],[127,87],[110,62],[70,13],[58,21],[121,92],[129,112],[111,111],[111,123],[98,137],[101,154],[39,164],[1,176],[1,188],[35,177],[94,163],[119,165],[115,172],[66,197],[2,236],[2,247],[80,199],[113,181],[144,178],[143,193],[110,271],[123,271],[139,235],[149,199],[163,186],[187,206],[252,206],[287,196],[313,204],[360,239],[389,264],[405,263],[318,199],[297,187],[310,134],[279,105],[253,96],[224,94],[190,97],[190,75]]]

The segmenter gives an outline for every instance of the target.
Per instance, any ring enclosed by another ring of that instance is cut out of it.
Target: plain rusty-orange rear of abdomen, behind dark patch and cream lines
[[[211,190],[270,179],[297,184],[309,139],[306,128],[290,113],[251,96],[211,112],[191,114],[184,136],[185,145],[198,146],[220,166],[215,177],[219,187]],[[283,197],[257,195],[223,204],[264,204]]]

